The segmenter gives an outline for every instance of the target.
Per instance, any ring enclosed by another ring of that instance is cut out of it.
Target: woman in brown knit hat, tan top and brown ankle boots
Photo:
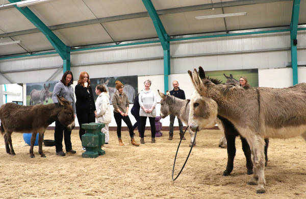
[[[129,128],[131,143],[134,146],[139,146],[139,143],[135,142],[134,129],[129,117],[129,98],[127,98],[127,95],[123,92],[123,84],[121,84],[120,81],[116,81],[115,84],[117,90],[113,94],[112,104],[114,107],[114,118],[117,123],[117,136],[119,140],[119,146],[124,145],[121,139],[121,120],[123,120]]]

